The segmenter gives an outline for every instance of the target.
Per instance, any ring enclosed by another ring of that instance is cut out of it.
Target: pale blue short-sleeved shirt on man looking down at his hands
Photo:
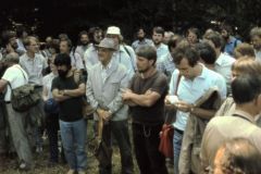
[[[202,64],[200,64],[202,65]],[[225,79],[217,73],[207,69],[202,65],[202,72],[199,76],[195,77],[192,80],[182,76],[178,88],[177,97],[179,101],[185,101],[187,103],[194,104],[201,96],[203,96],[211,87],[217,87],[222,99],[226,97],[226,84]],[[170,83],[170,95],[175,95],[176,82],[179,72],[175,70],[172,75]],[[176,112],[176,121],[174,127],[181,130],[185,130],[188,112]]]

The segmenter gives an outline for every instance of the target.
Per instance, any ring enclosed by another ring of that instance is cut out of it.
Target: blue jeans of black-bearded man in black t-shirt
[[[75,122],[59,121],[62,144],[71,170],[84,171],[87,166],[85,141],[87,124],[84,119]]]

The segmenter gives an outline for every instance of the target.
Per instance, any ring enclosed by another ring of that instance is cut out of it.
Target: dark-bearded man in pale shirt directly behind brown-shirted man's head
[[[132,45],[134,50],[137,50],[139,47],[141,46],[152,46],[153,42],[150,39],[147,39],[146,37],[146,33],[144,30],[144,28],[138,28],[137,30],[137,40],[135,40]]]

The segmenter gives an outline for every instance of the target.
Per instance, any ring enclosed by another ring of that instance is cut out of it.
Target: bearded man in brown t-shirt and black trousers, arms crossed
[[[166,174],[165,158],[160,153],[160,130],[164,123],[166,76],[156,70],[157,52],[152,46],[137,51],[137,69],[123,100],[130,107],[134,149],[140,173]]]

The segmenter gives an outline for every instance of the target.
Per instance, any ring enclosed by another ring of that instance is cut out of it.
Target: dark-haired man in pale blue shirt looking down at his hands
[[[211,119],[215,111],[194,107],[195,102],[211,87],[217,87],[220,94],[225,94],[225,82],[213,71],[199,63],[198,52],[190,46],[178,47],[173,53],[176,69],[170,83],[170,95],[175,95],[178,102],[174,104],[176,121],[174,126],[174,172],[178,173],[178,160],[182,148],[183,135],[190,113],[201,119]],[[181,75],[179,83],[178,74]],[[225,98],[225,95],[222,96]]]

